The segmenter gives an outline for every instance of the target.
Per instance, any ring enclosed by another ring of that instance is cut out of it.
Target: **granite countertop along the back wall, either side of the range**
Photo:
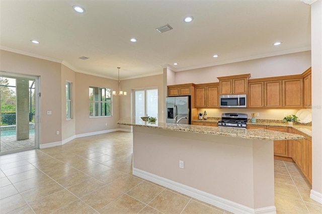
[[[208,123],[218,123],[220,118],[208,118],[207,120],[192,120],[193,122],[208,122]],[[276,122],[274,120],[257,120],[256,123],[252,123],[248,121],[247,125],[255,125],[255,126],[278,126],[278,127],[290,127],[295,128],[296,130],[302,132],[303,134],[312,137],[312,127],[303,125],[303,124],[296,124],[296,125],[289,125],[287,123]]]

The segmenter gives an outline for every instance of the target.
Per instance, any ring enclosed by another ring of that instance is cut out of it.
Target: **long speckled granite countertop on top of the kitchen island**
[[[227,136],[235,138],[256,139],[265,141],[274,140],[295,140],[304,139],[302,135],[295,135],[291,133],[277,132],[266,129],[239,129],[228,127],[209,127],[209,126],[197,126],[187,124],[171,124],[171,123],[149,123],[142,120],[134,121],[131,119],[121,119],[117,122],[119,125],[146,127],[161,130],[179,131],[200,133],[216,136]]]

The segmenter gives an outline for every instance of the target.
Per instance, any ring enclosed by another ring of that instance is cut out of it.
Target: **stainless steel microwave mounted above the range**
[[[220,108],[247,108],[247,94],[220,95]]]

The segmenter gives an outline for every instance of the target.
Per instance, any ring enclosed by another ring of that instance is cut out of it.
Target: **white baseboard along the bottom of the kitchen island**
[[[210,194],[208,192],[201,191],[199,189],[169,180],[164,177],[160,177],[149,172],[142,171],[140,169],[133,168],[133,175],[152,181],[159,185],[168,187],[175,191],[181,192],[188,196],[194,197],[206,203],[212,204],[219,208],[225,209],[233,213],[276,213],[275,206],[263,207],[259,209],[253,209],[251,207],[227,200],[222,197]]]

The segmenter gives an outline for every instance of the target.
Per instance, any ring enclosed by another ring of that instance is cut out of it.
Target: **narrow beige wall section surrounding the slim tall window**
[[[71,88],[71,120],[66,120],[66,90],[65,84],[66,81],[72,83]],[[77,91],[75,90],[75,72],[70,68],[61,65],[61,138],[66,140],[75,136],[75,95]]]

